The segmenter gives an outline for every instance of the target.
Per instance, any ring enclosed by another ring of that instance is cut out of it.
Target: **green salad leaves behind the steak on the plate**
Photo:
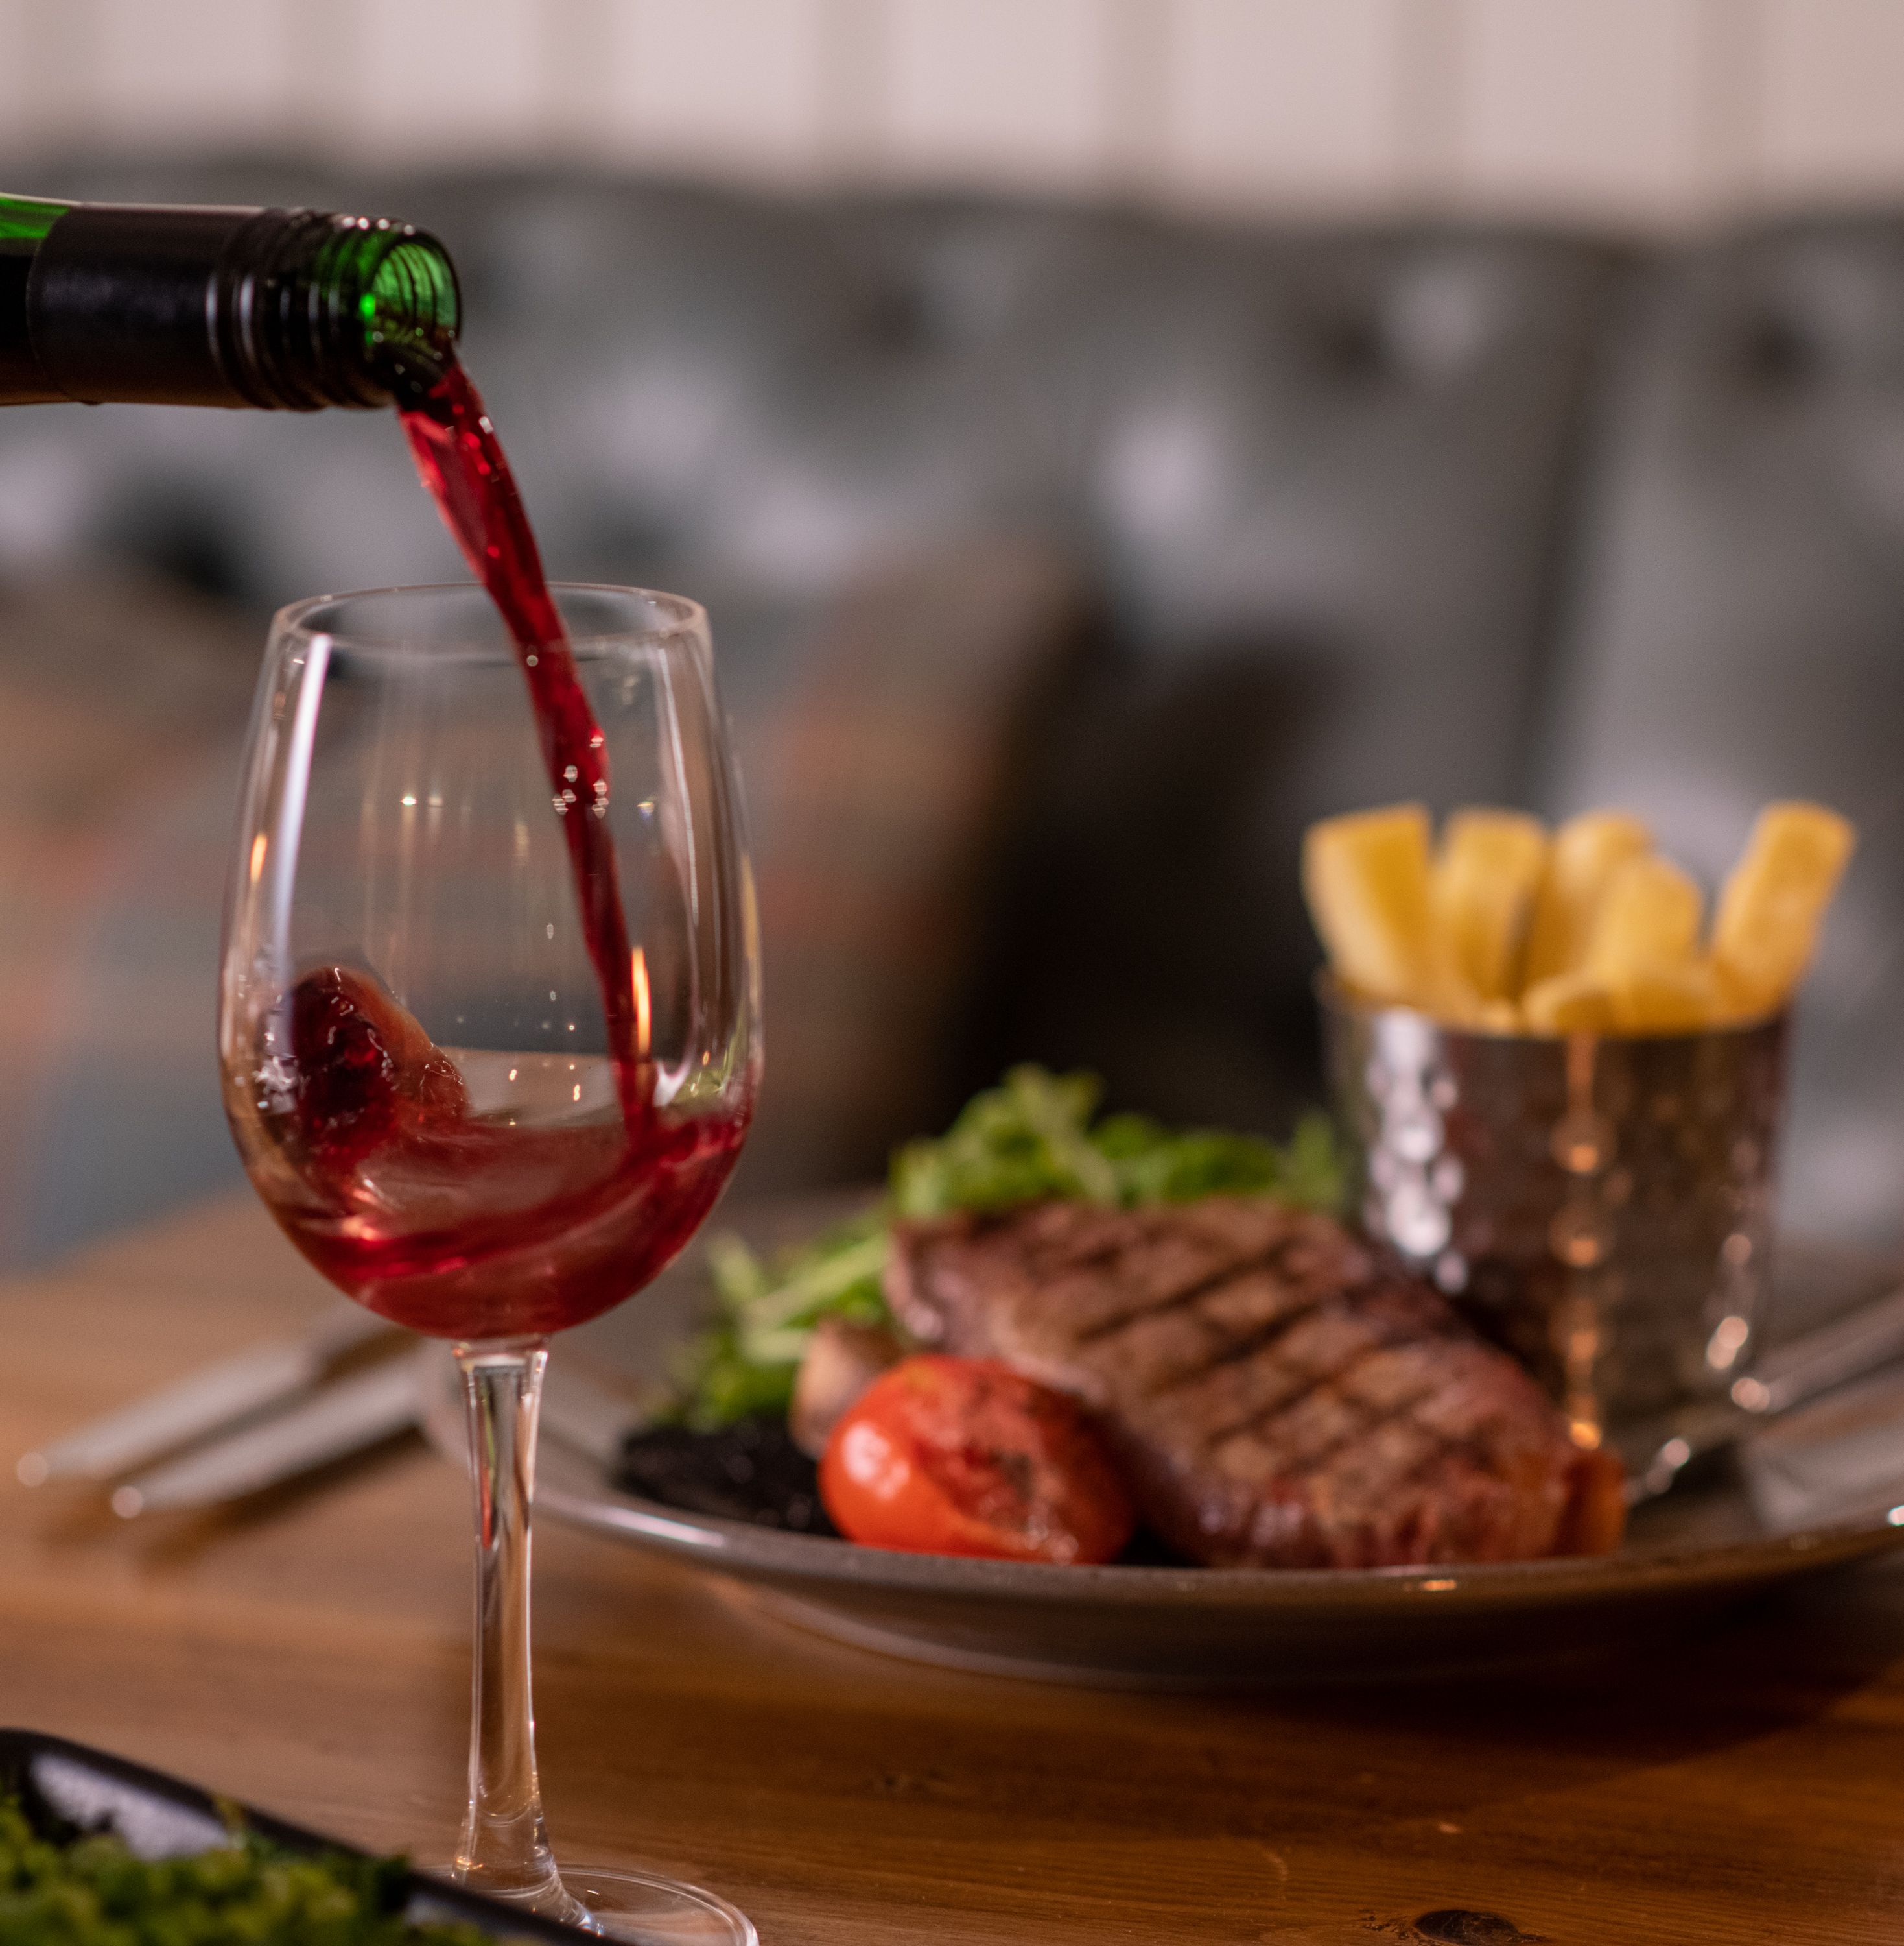
[[[716,1317],[677,1372],[683,1419],[714,1428],[784,1415],[823,1317],[889,1323],[881,1277],[895,1216],[1046,1199],[1136,1208],[1219,1195],[1340,1208],[1342,1162],[1326,1115],[1305,1115],[1278,1146],[1223,1129],[1167,1129],[1149,1115],[1097,1117],[1101,1094],[1093,1074],[1011,1068],[998,1088],[972,1096],[945,1135],[906,1142],[885,1199],[850,1222],[770,1259],[735,1236],[710,1238]]]

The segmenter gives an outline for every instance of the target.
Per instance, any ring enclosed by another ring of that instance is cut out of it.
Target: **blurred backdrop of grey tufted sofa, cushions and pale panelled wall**
[[[1896,0],[0,0],[0,45],[10,189],[434,228],[550,568],[708,601],[755,1187],[1011,1059],[1280,1133],[1315,815],[1622,802],[1713,885],[1809,794],[1863,850],[1787,1205],[1904,1234]],[[235,1181],[264,617],[457,572],[395,426],[0,418],[0,1259]]]

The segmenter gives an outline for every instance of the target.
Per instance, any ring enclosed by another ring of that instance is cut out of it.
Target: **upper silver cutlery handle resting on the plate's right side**
[[[1647,1421],[1618,1440],[1628,1504],[1657,1500],[1694,1460],[1723,1452],[1768,1419],[1898,1356],[1904,1356],[1904,1290],[1768,1351],[1727,1395]]]

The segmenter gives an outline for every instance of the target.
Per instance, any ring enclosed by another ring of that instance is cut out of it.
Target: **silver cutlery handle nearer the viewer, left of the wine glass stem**
[[[136,1520],[173,1508],[216,1506],[364,1452],[416,1424],[416,1386],[414,1354],[385,1358],[263,1424],[128,1479],[113,1491],[113,1512]]]

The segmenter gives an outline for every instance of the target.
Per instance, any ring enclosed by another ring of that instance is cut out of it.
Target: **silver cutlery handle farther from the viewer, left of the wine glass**
[[[338,1304],[301,1339],[259,1345],[194,1372],[41,1452],[25,1454],[14,1471],[25,1487],[49,1479],[113,1479],[309,1389],[346,1352],[391,1329],[387,1319],[358,1304]]]

